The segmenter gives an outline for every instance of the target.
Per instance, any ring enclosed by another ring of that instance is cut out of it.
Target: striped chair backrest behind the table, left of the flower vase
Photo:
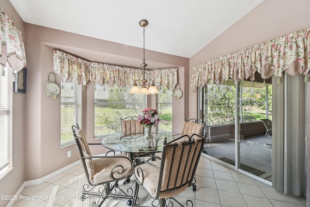
[[[137,116],[128,116],[124,119],[121,118],[121,125],[124,136],[129,134],[138,135],[144,133],[144,127],[139,124]]]

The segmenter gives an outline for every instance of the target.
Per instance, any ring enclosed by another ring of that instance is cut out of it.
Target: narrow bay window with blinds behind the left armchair
[[[81,122],[81,85],[77,81],[62,82],[61,103],[61,146],[65,146],[74,143],[71,127]]]

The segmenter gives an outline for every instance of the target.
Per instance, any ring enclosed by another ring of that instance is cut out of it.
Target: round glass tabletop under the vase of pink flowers
[[[162,151],[165,138],[167,142],[171,142],[182,136],[177,132],[161,130],[150,134],[149,138],[145,138],[143,134],[109,134],[102,139],[102,144],[108,149],[124,153],[156,153]]]

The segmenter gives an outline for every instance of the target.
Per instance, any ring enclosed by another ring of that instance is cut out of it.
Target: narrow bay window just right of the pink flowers
[[[159,113],[159,130],[172,131],[172,89],[166,86],[159,91],[157,98],[157,109]]]

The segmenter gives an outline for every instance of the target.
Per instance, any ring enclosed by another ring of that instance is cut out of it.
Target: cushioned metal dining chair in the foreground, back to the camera
[[[154,199],[159,199],[160,207],[169,206],[165,204],[167,198],[176,196],[190,187],[204,141],[204,137],[195,133],[191,136],[183,135],[169,143],[165,139],[161,159],[147,161],[135,158],[134,162],[143,164],[134,169],[136,188],[133,206],[137,205],[137,200],[139,201],[139,186],[142,186]]]

